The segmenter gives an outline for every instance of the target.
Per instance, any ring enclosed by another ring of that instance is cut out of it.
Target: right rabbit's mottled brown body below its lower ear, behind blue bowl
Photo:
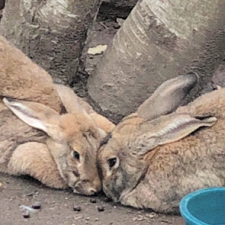
[[[146,156],[149,166],[145,178],[127,201],[135,203],[128,204],[177,212],[179,201],[186,194],[201,188],[225,186],[224,131],[219,132],[224,125],[224,121],[222,124],[218,121],[213,129],[203,128],[150,152]]]

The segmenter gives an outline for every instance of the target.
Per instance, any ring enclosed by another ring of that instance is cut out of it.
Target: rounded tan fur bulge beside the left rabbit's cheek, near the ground
[[[28,142],[17,147],[9,160],[8,171],[12,175],[29,174],[50,187],[68,187],[49,149],[42,143]]]

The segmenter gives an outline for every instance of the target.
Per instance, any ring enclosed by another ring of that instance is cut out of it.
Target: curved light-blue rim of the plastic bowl
[[[199,194],[208,193],[208,192],[218,192],[218,191],[225,191],[225,187],[211,187],[211,188],[205,188],[205,189],[199,189],[197,191],[193,191],[187,195],[185,195],[179,204],[180,213],[182,217],[186,220],[186,222],[198,224],[198,225],[210,225],[208,223],[204,223],[201,220],[194,217],[188,210],[187,206],[189,201]]]

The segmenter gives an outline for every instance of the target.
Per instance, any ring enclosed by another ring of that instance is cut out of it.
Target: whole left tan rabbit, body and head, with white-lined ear
[[[106,132],[80,105],[69,108],[66,91],[3,37],[0,78],[0,172],[79,194],[99,191],[96,152]]]

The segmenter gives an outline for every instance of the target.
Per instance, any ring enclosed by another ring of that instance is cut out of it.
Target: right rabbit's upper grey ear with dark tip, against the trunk
[[[173,112],[182,103],[186,95],[196,85],[195,73],[180,75],[162,83],[137,110],[140,117],[154,119]]]

